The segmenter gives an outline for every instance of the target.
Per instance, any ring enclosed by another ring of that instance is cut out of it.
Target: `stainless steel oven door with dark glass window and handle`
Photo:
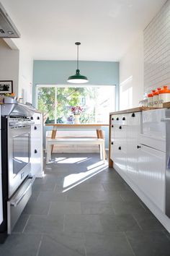
[[[8,127],[9,198],[30,173],[31,127]]]

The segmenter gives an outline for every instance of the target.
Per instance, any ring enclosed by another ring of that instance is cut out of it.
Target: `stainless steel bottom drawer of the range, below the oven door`
[[[8,234],[12,233],[14,225],[17,223],[19,216],[27,205],[30,196],[32,195],[32,184],[35,181],[35,176],[27,177],[17,192],[7,202],[7,226]]]

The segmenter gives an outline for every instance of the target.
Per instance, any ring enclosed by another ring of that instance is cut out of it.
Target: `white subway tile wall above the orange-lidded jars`
[[[144,30],[144,92],[170,85],[170,0]]]

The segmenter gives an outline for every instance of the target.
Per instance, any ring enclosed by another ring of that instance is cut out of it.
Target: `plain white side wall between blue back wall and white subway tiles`
[[[143,33],[120,59],[120,109],[138,106],[143,99]]]

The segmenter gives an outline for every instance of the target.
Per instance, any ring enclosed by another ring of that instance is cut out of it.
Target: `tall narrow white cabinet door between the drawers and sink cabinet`
[[[138,184],[138,137],[141,132],[141,112],[130,113],[127,130],[127,174]]]

